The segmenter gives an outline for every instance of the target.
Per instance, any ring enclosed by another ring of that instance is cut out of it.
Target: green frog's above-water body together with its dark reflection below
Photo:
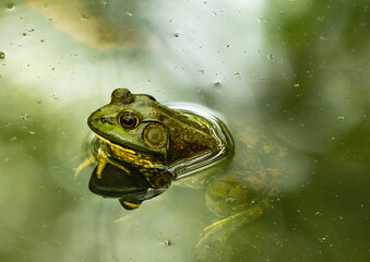
[[[234,141],[226,124],[211,114],[175,110],[146,94],[117,88],[110,103],[87,119],[98,163],[89,189],[119,198],[127,210],[166,191],[172,181],[230,158]]]

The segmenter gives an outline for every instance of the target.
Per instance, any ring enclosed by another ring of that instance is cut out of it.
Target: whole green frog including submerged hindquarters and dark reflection
[[[220,219],[204,228],[199,245],[208,239],[226,241],[268,211],[278,193],[282,168],[274,164],[284,157],[285,148],[246,129],[237,135],[241,146],[236,162],[219,170],[218,164],[234,156],[234,141],[212,115],[175,110],[150,95],[119,88],[110,104],[89,116],[88,126],[96,134],[93,157],[76,172],[98,163],[89,181],[94,193],[119,198],[123,207],[132,210],[174,180],[207,188],[207,207]]]

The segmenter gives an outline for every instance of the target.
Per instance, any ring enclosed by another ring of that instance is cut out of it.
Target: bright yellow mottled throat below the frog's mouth
[[[118,144],[111,142],[110,140],[102,138],[97,133],[95,133],[95,135],[98,139],[103,140],[109,146],[111,153],[115,154],[116,156],[118,156],[119,158],[124,159],[127,162],[134,163],[134,164],[140,165],[140,166],[144,166],[144,167],[153,167],[154,166],[153,159],[151,158],[150,155],[142,154],[142,153],[135,152],[135,151],[130,150],[130,148],[126,148],[121,145],[118,145]]]

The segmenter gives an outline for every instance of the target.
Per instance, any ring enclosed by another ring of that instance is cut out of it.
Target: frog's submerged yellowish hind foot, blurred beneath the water
[[[225,243],[239,228],[246,224],[252,223],[260,218],[271,206],[270,200],[263,200],[256,205],[238,212],[224,219],[217,221],[210,226],[203,228],[204,236],[196,243],[195,248],[200,248],[203,243],[211,240]]]

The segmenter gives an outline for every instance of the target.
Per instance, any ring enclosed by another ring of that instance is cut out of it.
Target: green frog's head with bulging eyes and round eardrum
[[[115,90],[108,105],[94,111],[88,127],[109,143],[118,156],[134,162],[164,162],[167,158],[168,130],[158,116],[160,108],[150,95],[134,95],[127,88]]]

